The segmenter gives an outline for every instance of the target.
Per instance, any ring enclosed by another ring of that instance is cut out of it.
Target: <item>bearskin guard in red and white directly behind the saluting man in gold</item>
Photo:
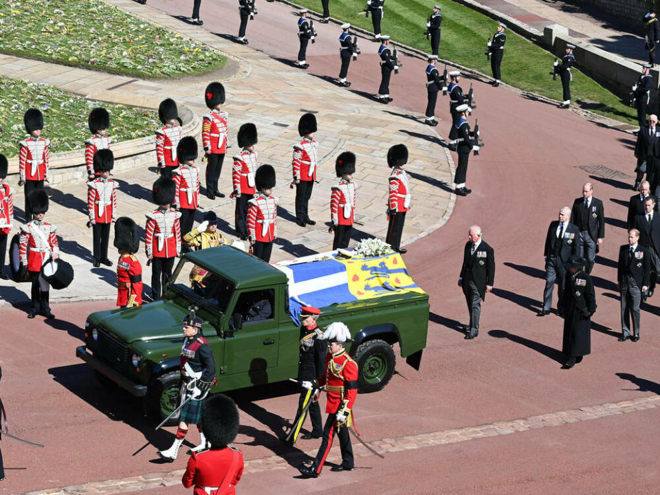
[[[179,166],[172,173],[176,184],[174,206],[181,213],[181,231],[190,232],[199,206],[199,168],[195,166],[197,159],[195,137],[186,136],[179,141],[177,158]]]

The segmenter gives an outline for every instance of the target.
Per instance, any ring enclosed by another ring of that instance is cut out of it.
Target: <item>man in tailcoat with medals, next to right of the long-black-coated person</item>
[[[628,230],[628,244],[619,248],[617,286],[621,292],[621,331],[619,342],[630,338],[632,317],[632,342],[639,340],[639,305],[641,294],[648,290],[650,263],[648,251],[639,244],[639,230]]]

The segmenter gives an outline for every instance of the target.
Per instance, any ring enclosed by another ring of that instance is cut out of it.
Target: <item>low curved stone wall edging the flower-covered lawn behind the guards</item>
[[[183,122],[183,134],[197,136],[201,133],[201,119],[190,108],[179,104],[179,117]],[[153,107],[157,111],[157,107]],[[155,129],[154,129],[155,131]],[[135,168],[147,168],[156,162],[155,155],[156,138],[152,135],[138,137],[134,140],[120,141],[111,144],[115,155],[115,166],[113,172],[131,170]],[[9,174],[13,182],[18,181],[19,159],[14,157],[9,160]],[[12,177],[14,176],[14,177]],[[62,186],[63,184],[77,184],[87,181],[87,168],[85,168],[85,148],[50,155],[49,169],[50,186]]]

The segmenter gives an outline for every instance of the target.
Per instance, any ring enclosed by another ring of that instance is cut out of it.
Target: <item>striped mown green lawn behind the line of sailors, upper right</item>
[[[296,3],[316,12],[322,11],[320,0],[296,0]],[[430,53],[430,42],[426,41],[423,32],[434,3],[439,3],[442,7],[440,57],[490,76],[490,62],[485,56],[486,41],[488,36],[492,36],[496,31],[497,23],[459,3],[447,0],[386,0],[381,25],[383,34],[389,34],[394,41]],[[371,17],[364,17],[365,5],[366,0],[333,0],[330,3],[330,13],[332,17],[371,31]],[[505,83],[562,100],[559,78],[553,81],[549,75],[554,56],[511,30],[506,33],[507,43],[502,62]],[[571,94],[573,104],[584,109],[630,124],[637,122],[635,109],[623,104],[615,94],[575,69]]]

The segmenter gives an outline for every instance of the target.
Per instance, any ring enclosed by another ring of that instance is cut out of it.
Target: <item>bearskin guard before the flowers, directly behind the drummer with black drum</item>
[[[25,184],[25,221],[32,219],[28,196],[35,189],[43,189],[43,181],[48,181],[48,146],[50,140],[41,137],[43,113],[29,109],[23,116],[28,139],[19,142],[19,186]]]

